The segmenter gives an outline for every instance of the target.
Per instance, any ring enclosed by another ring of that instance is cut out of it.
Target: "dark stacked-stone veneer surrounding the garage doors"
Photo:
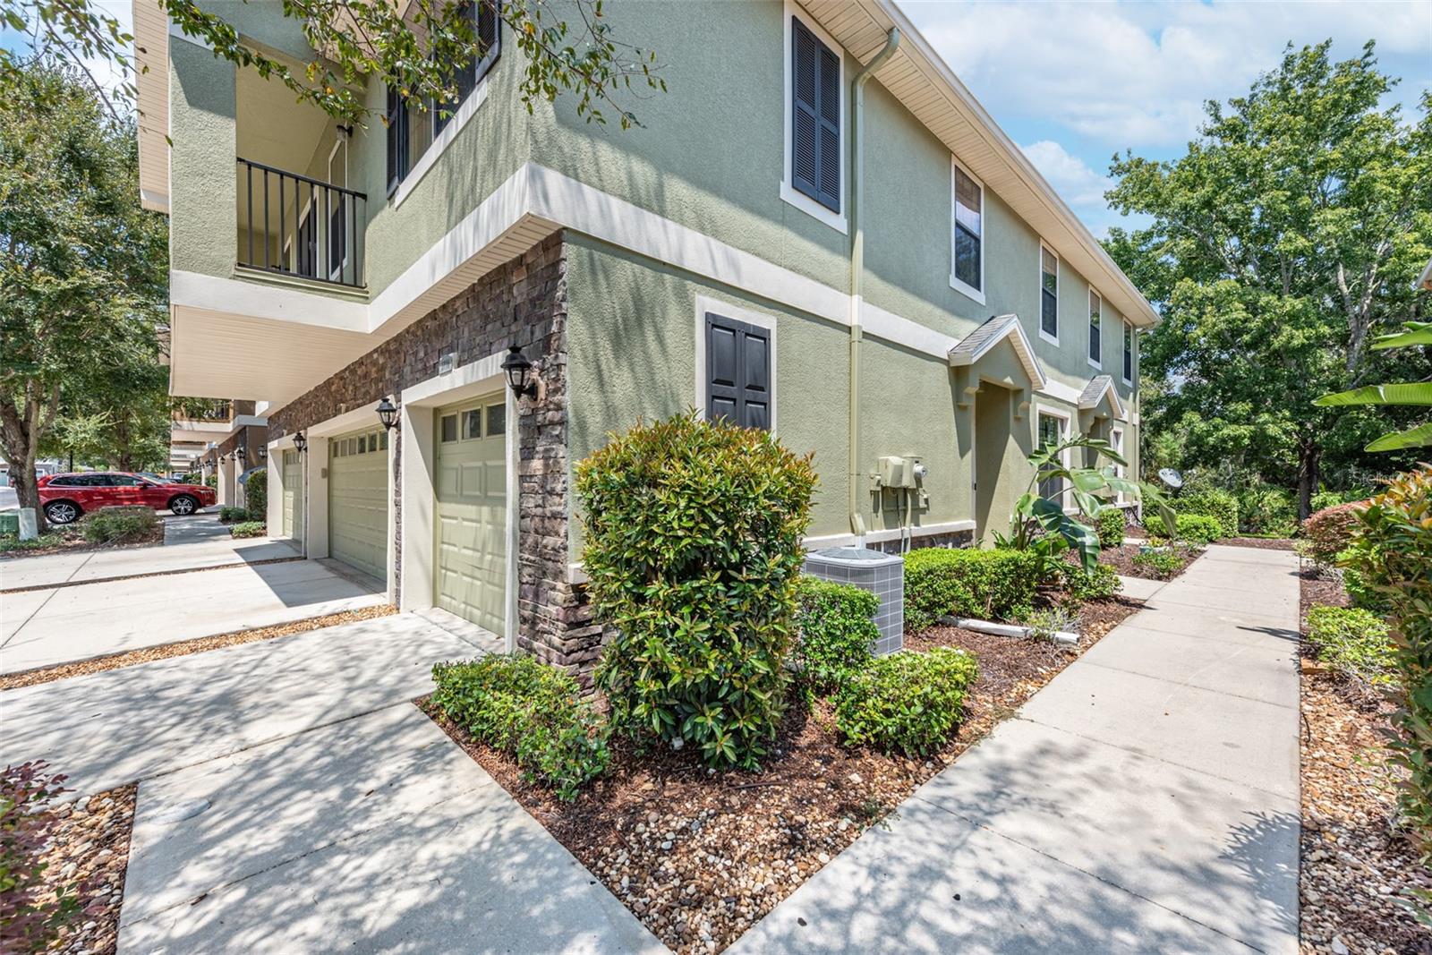
[[[461,367],[521,345],[538,367],[541,394],[518,405],[518,637],[540,660],[587,670],[601,651],[584,597],[567,583],[567,275],[561,233],[493,269],[461,294],[268,415],[269,432],[311,428],[438,374],[457,352]],[[391,442],[400,447],[401,442]],[[321,452],[309,448],[309,454]],[[402,534],[401,460],[394,461],[394,508]],[[401,548],[395,548],[398,560]],[[402,567],[394,568],[402,587]]]

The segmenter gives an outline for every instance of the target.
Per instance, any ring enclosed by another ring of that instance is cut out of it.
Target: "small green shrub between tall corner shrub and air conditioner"
[[[828,692],[871,661],[879,606],[868,590],[800,577],[795,660],[812,689]]]

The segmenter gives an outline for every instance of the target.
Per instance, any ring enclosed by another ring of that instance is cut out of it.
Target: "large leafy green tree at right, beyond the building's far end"
[[[1187,464],[1296,485],[1300,517],[1325,457],[1348,470],[1405,415],[1313,398],[1429,371],[1369,342],[1428,306],[1411,276],[1432,255],[1432,93],[1403,122],[1379,107],[1396,80],[1372,43],[1342,63],[1327,49],[1289,47],[1247,96],[1207,103],[1184,156],[1116,156],[1108,193],[1153,216],[1107,243],[1164,318],[1144,336],[1148,431],[1181,434]]]

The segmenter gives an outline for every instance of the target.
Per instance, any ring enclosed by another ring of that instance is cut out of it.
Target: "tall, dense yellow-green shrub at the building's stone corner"
[[[587,593],[616,629],[594,679],[617,724],[759,765],[785,707],[815,484],[809,455],[695,412],[577,465]]]

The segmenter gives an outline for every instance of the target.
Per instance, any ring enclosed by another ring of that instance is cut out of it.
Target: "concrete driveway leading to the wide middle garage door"
[[[168,548],[162,548],[168,550]],[[384,583],[301,560],[0,596],[0,673],[387,603]]]

